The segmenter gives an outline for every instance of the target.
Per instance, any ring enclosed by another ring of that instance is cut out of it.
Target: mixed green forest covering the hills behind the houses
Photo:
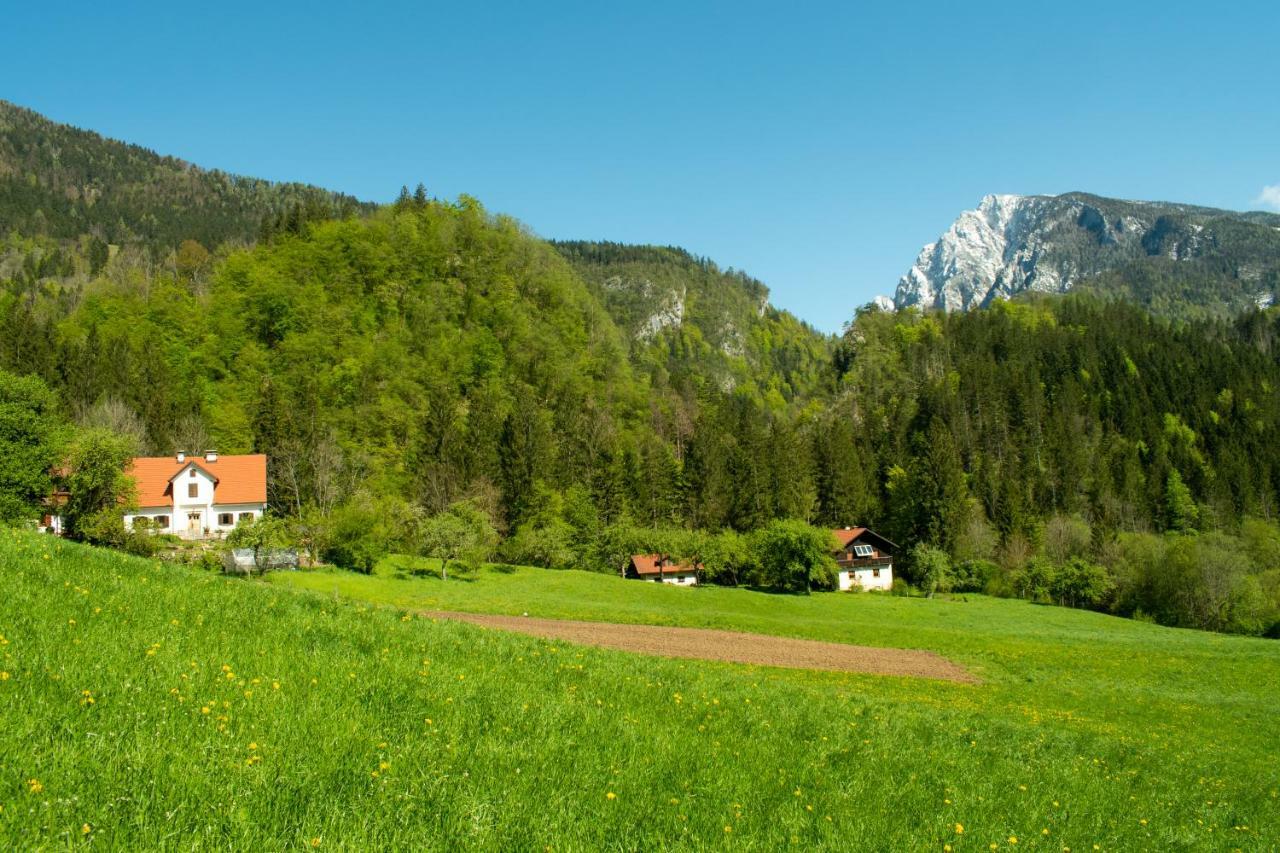
[[[268,453],[323,558],[465,506],[511,562],[646,547],[767,587],[750,534],[859,524],[929,592],[1280,631],[1276,310],[1096,284],[829,337],[677,248],[552,243],[421,187],[375,209],[0,106],[0,420]]]

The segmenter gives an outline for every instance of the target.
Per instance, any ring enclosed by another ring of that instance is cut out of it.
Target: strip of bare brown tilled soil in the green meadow
[[[424,616],[453,619],[504,631],[518,631],[534,637],[604,646],[625,652],[662,657],[695,657],[704,661],[731,661],[733,663],[786,666],[801,670],[911,675],[968,684],[978,680],[964,667],[952,663],[941,654],[915,649],[847,646],[845,643],[742,634],[709,628],[577,622],[559,619],[444,611],[430,611]]]

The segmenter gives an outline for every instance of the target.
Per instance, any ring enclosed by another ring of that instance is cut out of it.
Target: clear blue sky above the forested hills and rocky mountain
[[[680,245],[826,330],[988,192],[1280,209],[1276,3],[202,5],[13,4],[0,97],[206,167]]]

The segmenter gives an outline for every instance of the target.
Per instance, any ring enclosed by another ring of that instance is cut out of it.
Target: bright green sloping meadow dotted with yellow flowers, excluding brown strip
[[[0,570],[5,848],[1280,843],[1272,642],[581,573],[244,581],[13,532]],[[419,608],[929,648],[983,683],[667,661]]]

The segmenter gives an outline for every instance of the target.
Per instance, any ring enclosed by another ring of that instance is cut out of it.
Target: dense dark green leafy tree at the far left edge
[[[0,370],[0,523],[40,512],[65,438],[58,398],[45,383]]]

